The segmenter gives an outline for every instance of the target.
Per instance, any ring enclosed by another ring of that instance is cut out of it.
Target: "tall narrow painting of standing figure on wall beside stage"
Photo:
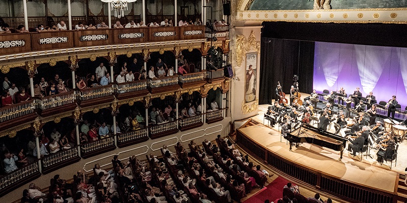
[[[245,101],[246,103],[256,99],[257,84],[257,53],[246,54],[246,84]]]

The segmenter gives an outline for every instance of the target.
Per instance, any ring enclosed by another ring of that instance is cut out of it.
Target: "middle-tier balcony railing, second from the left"
[[[38,99],[39,107],[42,110],[60,107],[62,105],[73,104],[75,102],[75,92],[66,92],[51,96],[40,97]]]

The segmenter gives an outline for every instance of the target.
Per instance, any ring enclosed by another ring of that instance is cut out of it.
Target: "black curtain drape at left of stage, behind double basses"
[[[261,38],[259,104],[276,98],[277,82],[289,93],[294,75],[301,92],[312,91],[314,42]]]

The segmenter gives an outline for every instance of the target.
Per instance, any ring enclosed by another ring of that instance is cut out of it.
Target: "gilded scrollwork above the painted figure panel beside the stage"
[[[260,43],[256,41],[253,30],[248,40],[246,40],[243,35],[236,36],[236,62],[238,66],[242,65],[244,54],[250,51],[250,49],[254,49],[257,53],[260,53]]]

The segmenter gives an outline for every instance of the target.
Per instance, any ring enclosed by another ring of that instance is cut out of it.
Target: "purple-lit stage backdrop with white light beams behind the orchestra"
[[[407,105],[407,48],[315,42],[314,81],[317,92],[343,87],[353,94],[360,87],[379,101],[392,95]]]

